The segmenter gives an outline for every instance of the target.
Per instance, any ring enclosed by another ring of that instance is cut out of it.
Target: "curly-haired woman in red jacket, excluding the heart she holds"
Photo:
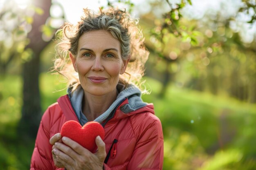
[[[30,169],[161,170],[161,122],[137,87],[148,57],[137,21],[115,9],[84,13],[77,25],[65,23],[56,33],[61,39],[55,71],[72,86],[45,111]],[[69,120],[103,126],[105,138],[96,138],[97,152],[61,137],[61,126]]]

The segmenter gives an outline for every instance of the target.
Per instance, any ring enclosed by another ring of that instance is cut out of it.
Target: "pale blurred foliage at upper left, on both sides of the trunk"
[[[63,7],[54,2],[62,13],[59,16],[51,16],[47,22],[38,28],[42,31],[43,40],[50,41],[56,31],[63,24]],[[39,7],[29,5],[22,9],[14,0],[6,0],[0,9],[0,72],[10,72],[12,66],[20,67],[20,64],[31,60],[33,51],[26,46],[29,44],[27,34],[31,31],[34,14],[43,15],[44,11]],[[16,71],[17,72],[17,71]]]

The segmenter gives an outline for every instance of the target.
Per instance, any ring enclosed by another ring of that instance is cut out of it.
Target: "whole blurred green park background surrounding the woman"
[[[255,0],[0,0],[0,169],[29,169],[40,118],[66,94],[54,33],[108,6],[140,18],[164,170],[255,170]]]

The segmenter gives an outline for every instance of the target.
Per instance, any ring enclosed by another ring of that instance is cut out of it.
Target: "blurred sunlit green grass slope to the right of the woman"
[[[256,105],[211,93],[169,86],[147,78],[164,130],[164,170],[254,170]],[[254,122],[254,123],[253,123]]]

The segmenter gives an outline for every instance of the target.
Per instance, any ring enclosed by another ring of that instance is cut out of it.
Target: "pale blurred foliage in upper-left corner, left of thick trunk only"
[[[0,10],[0,71],[6,72],[7,66],[14,60],[27,60],[29,51],[24,51],[27,30],[31,16],[13,3],[5,3]],[[17,65],[17,64],[16,64]]]

